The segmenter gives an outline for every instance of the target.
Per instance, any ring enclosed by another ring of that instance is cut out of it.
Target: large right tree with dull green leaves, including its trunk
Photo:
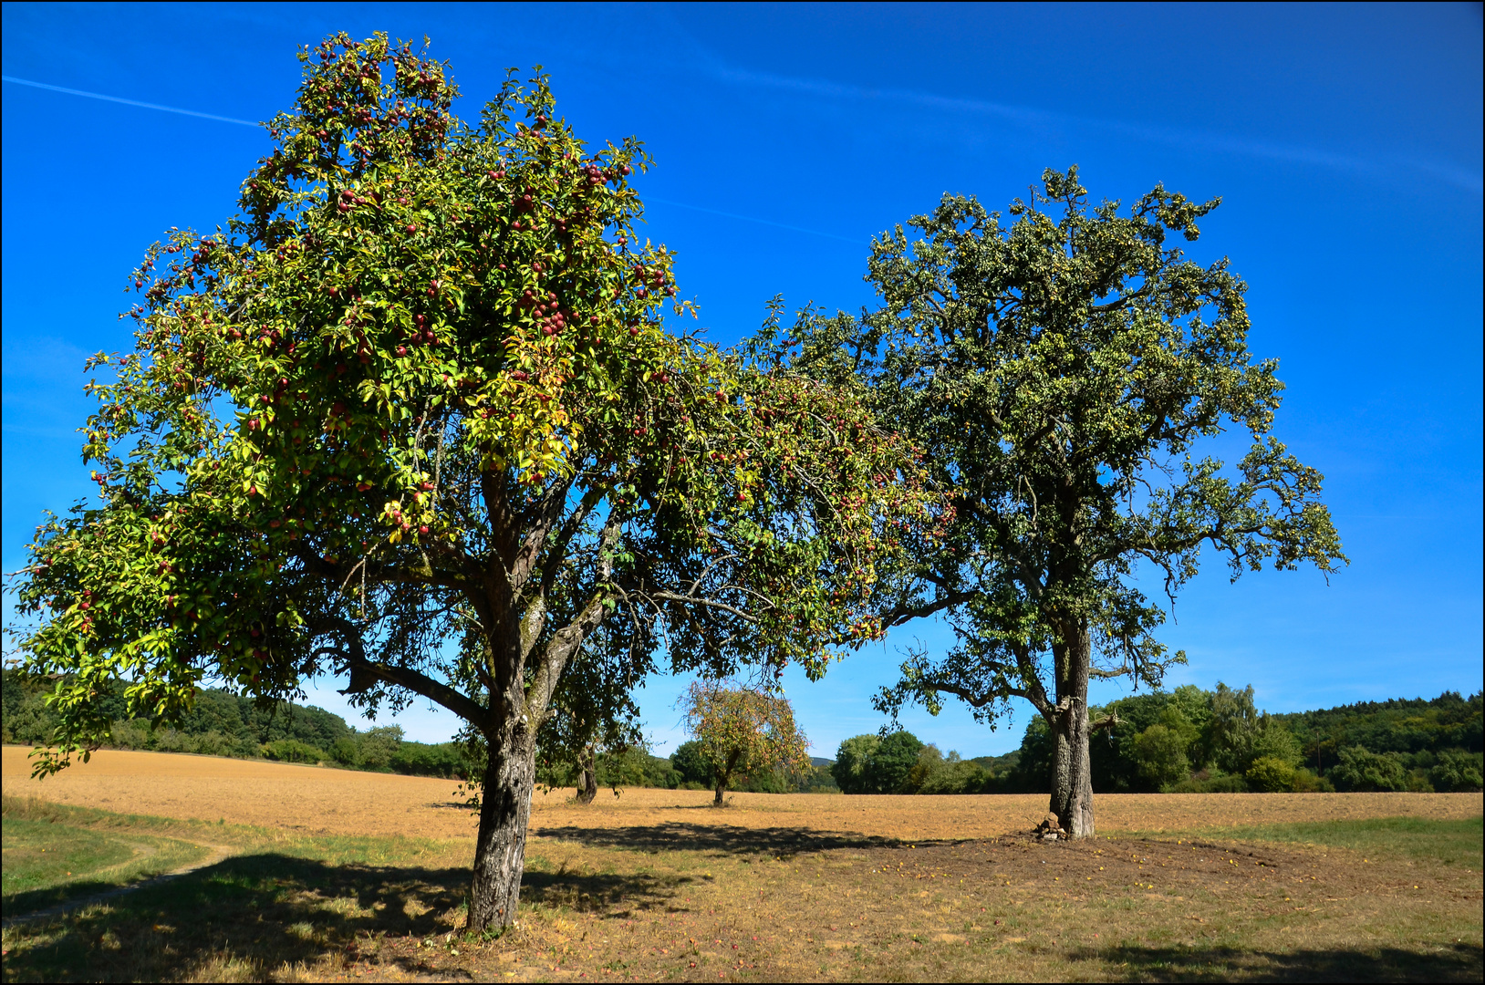
[[[915,652],[879,698],[895,713],[943,695],[993,721],[1029,701],[1057,735],[1053,811],[1091,833],[1087,683],[1155,686],[1173,661],[1145,563],[1175,593],[1203,548],[1231,576],[1264,563],[1344,562],[1320,474],[1271,437],[1283,385],[1247,352],[1246,284],[1167,242],[1198,236],[1218,199],[1157,186],[1127,209],[1091,204],[1077,168],[999,212],[944,195],[878,238],[882,308],[803,325],[793,365],[861,379],[885,426],[933,449],[952,492],[947,535],[924,539],[884,587],[884,620],[943,617],[955,645]],[[784,346],[787,351],[787,346]],[[1234,468],[1198,444],[1236,426]]]

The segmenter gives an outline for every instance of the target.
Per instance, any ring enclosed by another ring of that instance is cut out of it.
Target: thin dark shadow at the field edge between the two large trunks
[[[634,851],[705,851],[710,854],[792,856],[830,848],[895,848],[904,842],[855,832],[823,832],[808,828],[740,828],[734,825],[693,825],[664,822],[628,828],[533,828],[533,835],[575,841],[590,848],[630,848]],[[930,842],[913,842],[930,844]]]

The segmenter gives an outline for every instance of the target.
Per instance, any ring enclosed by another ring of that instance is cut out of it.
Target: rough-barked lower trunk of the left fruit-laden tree
[[[499,930],[515,921],[526,871],[526,822],[536,783],[536,735],[521,721],[489,737],[490,764],[480,793],[469,930]]]

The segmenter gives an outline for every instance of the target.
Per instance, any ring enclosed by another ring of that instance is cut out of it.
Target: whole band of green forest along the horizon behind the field
[[[55,725],[45,686],[4,672],[6,743],[43,744]],[[260,706],[229,691],[202,689],[181,728],[151,731],[117,707],[113,749],[261,758],[462,778],[469,776],[460,743],[417,743],[396,725],[359,731],[339,715],[310,704]],[[1482,789],[1481,694],[1448,691],[1433,700],[1344,704],[1319,712],[1270,715],[1253,704],[1253,689],[1219,683],[1187,685],[1120,698],[1091,709],[1109,719],[1091,743],[1093,789],[1133,792],[1311,792]],[[774,770],[735,789],[756,793],[842,790],[845,793],[1040,793],[1051,764],[1051,734],[1041,718],[1026,728],[1020,749],[1004,756],[964,759],[943,753],[909,731],[867,734],[841,743],[835,761],[805,770]],[[699,743],[668,756],[646,749],[607,750],[597,758],[598,783],[612,789],[707,789],[711,764]],[[573,786],[578,767],[542,758],[538,776],[548,787]]]

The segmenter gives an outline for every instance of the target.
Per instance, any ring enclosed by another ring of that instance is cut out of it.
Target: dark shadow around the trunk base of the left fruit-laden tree
[[[521,903],[578,909],[618,903],[633,912],[665,906],[677,882],[529,869]],[[466,866],[236,856],[6,930],[4,981],[252,981],[327,957],[349,967],[382,937],[443,942],[463,924],[468,887]],[[408,975],[462,975],[416,957],[395,957],[394,964]]]

